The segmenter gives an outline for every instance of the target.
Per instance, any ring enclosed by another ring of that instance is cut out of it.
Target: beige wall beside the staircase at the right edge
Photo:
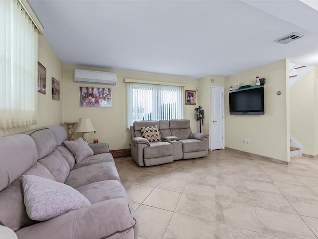
[[[318,67],[290,90],[290,133],[304,146],[304,153],[318,154],[317,142]]]

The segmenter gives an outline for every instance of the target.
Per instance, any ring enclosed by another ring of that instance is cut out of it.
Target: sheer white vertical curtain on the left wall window
[[[0,0],[0,129],[37,123],[37,36],[16,0]]]

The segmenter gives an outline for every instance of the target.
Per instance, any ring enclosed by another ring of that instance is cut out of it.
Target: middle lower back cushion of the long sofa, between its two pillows
[[[38,162],[45,166],[52,173],[56,181],[60,183],[64,183],[69,175],[70,166],[57,149],[54,149],[51,154],[40,159]]]

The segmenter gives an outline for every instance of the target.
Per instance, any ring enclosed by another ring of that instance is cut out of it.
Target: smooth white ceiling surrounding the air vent
[[[200,78],[318,66],[318,1],[29,0],[64,64]],[[286,45],[273,40],[305,35]]]

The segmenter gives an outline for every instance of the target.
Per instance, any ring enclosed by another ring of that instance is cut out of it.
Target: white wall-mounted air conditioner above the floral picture
[[[117,74],[103,71],[75,69],[74,81],[77,83],[113,85],[117,83]]]

